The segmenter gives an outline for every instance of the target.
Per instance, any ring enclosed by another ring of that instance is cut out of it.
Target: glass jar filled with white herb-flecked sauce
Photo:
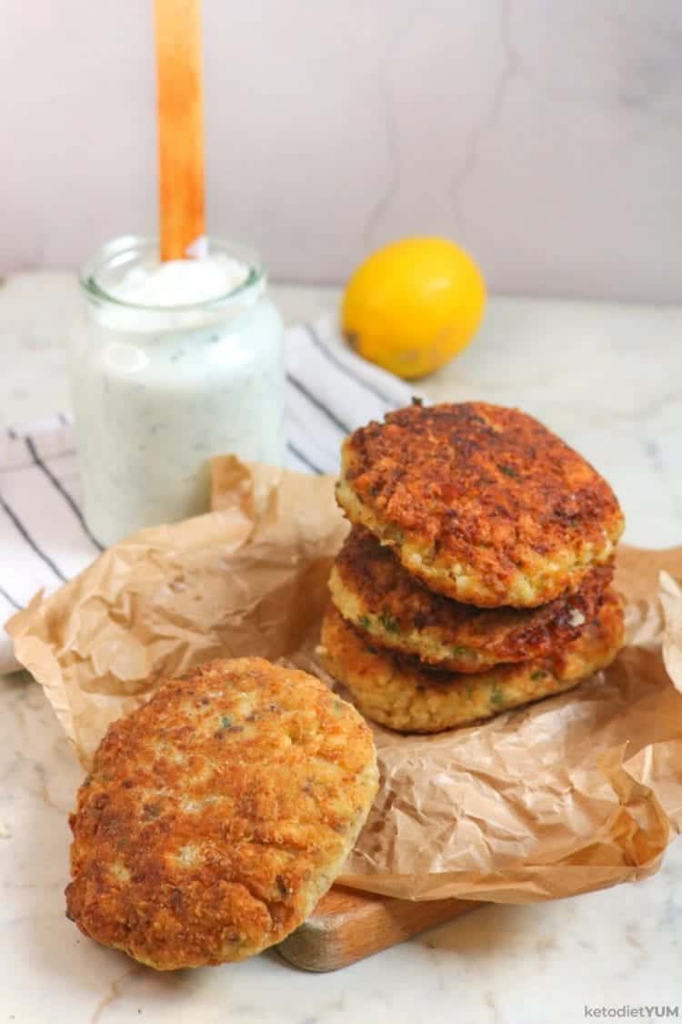
[[[155,240],[118,239],[82,270],[70,368],[85,517],[104,545],[208,511],[212,456],[283,464],[281,318],[256,253],[208,248],[243,281],[189,304],[117,297],[131,271],[160,267]]]

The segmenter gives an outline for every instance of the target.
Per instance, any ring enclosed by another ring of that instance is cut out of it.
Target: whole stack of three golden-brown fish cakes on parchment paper
[[[345,441],[336,497],[353,528],[322,651],[368,718],[438,732],[566,690],[618,653],[623,514],[532,417],[391,413]]]

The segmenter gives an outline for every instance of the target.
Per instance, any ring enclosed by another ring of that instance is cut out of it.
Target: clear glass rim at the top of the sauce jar
[[[210,299],[177,303],[172,306],[152,305],[122,299],[100,284],[99,275],[105,269],[117,265],[123,267],[127,262],[130,266],[135,265],[134,257],[139,260],[155,255],[157,262],[161,263],[158,258],[160,241],[154,236],[123,234],[106,242],[82,265],[79,272],[79,284],[88,297],[96,299],[98,302],[103,301],[126,309],[138,309],[149,313],[219,310],[233,302],[239,302],[243,298],[253,297],[255,291],[261,291],[265,287],[266,271],[261,256],[255,249],[239,242],[227,242],[223,239],[207,238],[206,242],[209,255],[220,253],[244,263],[248,267],[248,274],[244,281],[230,291],[212,296]]]

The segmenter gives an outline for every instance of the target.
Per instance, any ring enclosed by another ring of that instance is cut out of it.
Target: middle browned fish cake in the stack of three
[[[573,594],[539,608],[475,608],[428,590],[393,551],[354,526],[329,578],[331,599],[368,643],[450,672],[546,657],[594,618],[612,568],[590,569]]]

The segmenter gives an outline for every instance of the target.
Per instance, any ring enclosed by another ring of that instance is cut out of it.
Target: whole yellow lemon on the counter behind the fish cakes
[[[378,249],[344,293],[351,345],[399,377],[421,377],[461,352],[486,304],[479,267],[447,239],[402,239]]]

